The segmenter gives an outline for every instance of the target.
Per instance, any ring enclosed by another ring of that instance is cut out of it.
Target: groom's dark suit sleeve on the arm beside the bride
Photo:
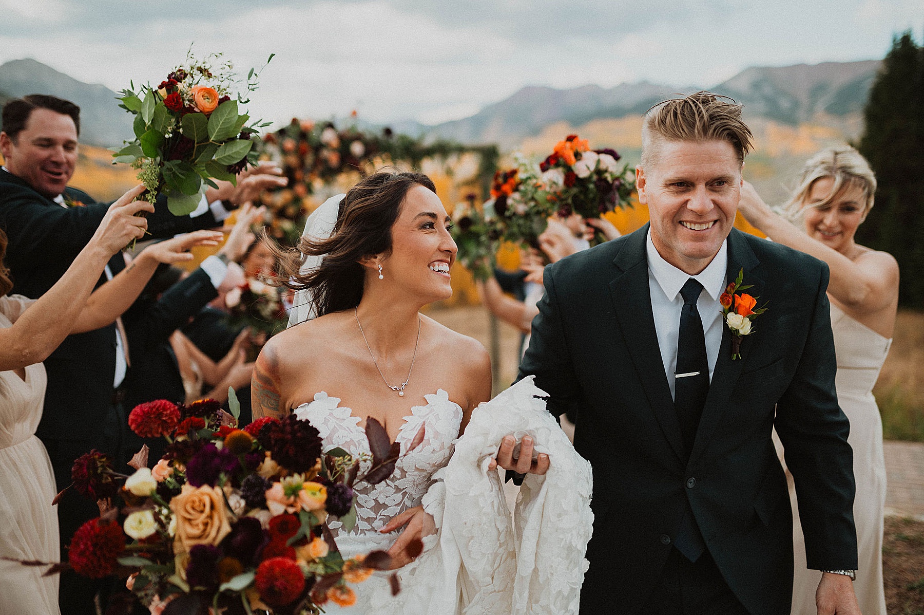
[[[536,386],[549,394],[546,408],[555,416],[567,412],[580,400],[574,362],[565,338],[565,322],[555,287],[556,264],[543,274],[545,294],[538,303],[539,315],[532,321],[529,348],[520,362],[517,380],[535,375]]]

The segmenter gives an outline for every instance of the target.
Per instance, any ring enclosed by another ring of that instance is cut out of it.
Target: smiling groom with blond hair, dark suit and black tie
[[[582,613],[789,613],[774,426],[808,566],[827,572],[819,612],[859,612],[828,268],[732,228],[750,147],[741,106],[714,94],[654,107],[636,169],[650,225],[545,270],[520,377],[536,376],[554,414],[577,414],[575,447],[593,466]],[[767,311],[733,360],[721,301],[739,271]]]

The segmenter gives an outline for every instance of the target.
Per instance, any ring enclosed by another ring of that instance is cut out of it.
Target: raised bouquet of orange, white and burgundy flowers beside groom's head
[[[635,189],[634,176],[611,149],[591,150],[586,139],[568,135],[539,166],[542,193],[553,213],[600,217],[626,207]]]

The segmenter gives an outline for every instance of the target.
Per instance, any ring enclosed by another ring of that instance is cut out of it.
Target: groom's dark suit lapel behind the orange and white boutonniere
[[[726,284],[728,281],[734,281],[738,271],[744,270],[745,285],[751,285],[753,288],[748,289],[749,295],[754,297],[761,296],[763,292],[763,278],[758,277],[754,270],[760,264],[754,251],[748,245],[748,240],[744,234],[732,229],[728,236],[728,271],[725,274]],[[759,321],[760,322],[760,321]],[[728,326],[723,323],[722,326],[722,344],[719,348],[719,356],[715,362],[715,370],[712,373],[712,381],[709,387],[709,396],[706,398],[706,404],[702,410],[702,417],[699,419],[699,429],[696,440],[693,443],[693,450],[690,453],[690,463],[697,461],[699,455],[703,453],[709,444],[712,434],[720,424],[722,412],[728,407],[728,401],[731,398],[738,376],[741,375],[741,369],[744,363],[748,361],[748,350],[750,349],[752,336],[745,336],[741,342],[741,359],[732,361],[732,333]]]

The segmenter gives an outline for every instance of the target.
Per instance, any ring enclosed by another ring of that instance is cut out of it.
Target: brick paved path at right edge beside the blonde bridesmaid
[[[885,441],[885,514],[924,521],[924,444]]]

